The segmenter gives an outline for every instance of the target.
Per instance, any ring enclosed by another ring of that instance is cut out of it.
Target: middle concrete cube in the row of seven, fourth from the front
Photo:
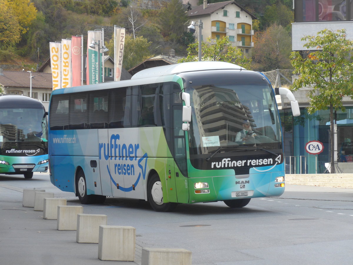
[[[82,206],[58,206],[58,230],[76,230],[77,229],[77,215],[83,213]]]

